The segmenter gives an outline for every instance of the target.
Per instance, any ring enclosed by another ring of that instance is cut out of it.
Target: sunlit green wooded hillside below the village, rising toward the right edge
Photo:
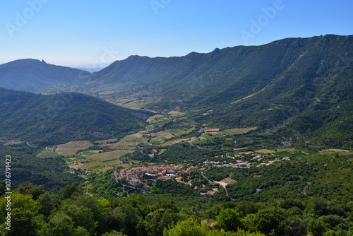
[[[237,182],[227,187],[229,196],[237,198],[232,201],[224,191],[220,193],[223,199],[201,196],[189,184],[170,181],[157,181],[154,194],[107,198],[90,196],[85,192],[88,188],[75,184],[52,194],[24,182],[11,194],[11,232],[4,230],[6,212],[0,211],[0,235],[352,235],[351,158],[317,155],[310,163],[303,158],[294,165],[287,162],[265,167],[268,171],[234,169],[231,175]],[[21,167],[16,164],[15,168]],[[226,168],[216,168],[207,173],[210,179],[227,175]],[[334,170],[340,173],[336,175]],[[100,191],[119,187],[109,176],[92,175],[84,181],[91,187],[100,184]],[[307,189],[308,185],[303,190],[297,187],[305,181],[310,181]],[[4,182],[0,184],[0,206],[4,209]],[[180,186],[184,189],[178,189]],[[265,190],[257,192],[260,186]],[[240,197],[244,194],[247,200]]]

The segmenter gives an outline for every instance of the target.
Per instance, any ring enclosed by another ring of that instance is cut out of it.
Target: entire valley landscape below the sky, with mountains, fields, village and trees
[[[352,234],[352,52],[352,35],[321,35],[131,56],[94,73],[0,65],[13,225],[29,235],[66,225],[76,231],[62,235]]]

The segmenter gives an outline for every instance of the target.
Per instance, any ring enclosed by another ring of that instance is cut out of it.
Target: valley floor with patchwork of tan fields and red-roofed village
[[[192,121],[189,120],[188,114],[166,110],[149,117],[145,128],[134,134],[94,142],[71,141],[45,148],[37,156],[62,156],[69,167],[68,172],[88,179],[83,180],[84,183],[80,186],[90,194],[97,194],[89,181],[91,175],[95,174],[106,177],[112,175],[114,181],[123,184],[113,190],[118,196],[124,195],[125,192],[149,193],[150,187],[155,186],[155,181],[166,182],[169,179],[193,187],[192,191],[197,191],[201,196],[212,196],[222,187],[225,189],[225,197],[233,199],[227,193],[227,186],[230,184],[232,187],[237,183],[237,178],[232,177],[232,169],[264,170],[263,167],[270,167],[276,162],[296,163],[317,155],[332,155],[330,153],[353,154],[353,151],[349,150],[331,150],[324,146],[303,143],[274,147],[265,144],[268,137],[261,134],[262,131],[258,131],[256,127],[222,130],[207,124],[189,122]],[[258,140],[259,132],[261,141]],[[253,136],[257,137],[252,138]],[[174,157],[174,148],[181,148],[185,158],[177,157],[178,155]],[[205,154],[193,155],[192,151],[188,151],[192,148],[196,149],[196,153],[203,150]],[[166,155],[166,151],[172,153]],[[223,177],[212,181],[210,179],[213,175],[209,173],[215,169],[227,171]],[[121,180],[122,178],[124,180]],[[100,184],[97,185],[99,186]],[[261,190],[263,187],[256,187],[256,193]]]

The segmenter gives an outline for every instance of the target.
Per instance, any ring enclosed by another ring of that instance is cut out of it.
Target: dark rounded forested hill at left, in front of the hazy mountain
[[[0,88],[0,137],[49,146],[137,131],[151,112],[80,93],[41,95]]]

